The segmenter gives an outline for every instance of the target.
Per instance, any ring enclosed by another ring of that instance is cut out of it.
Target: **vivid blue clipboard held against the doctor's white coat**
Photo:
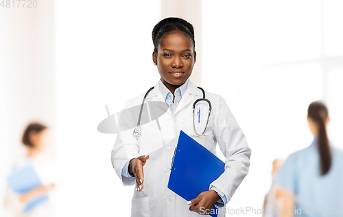
[[[180,131],[176,146],[168,188],[186,201],[195,199],[209,190],[210,184],[224,173],[225,164],[211,151]],[[213,206],[217,216],[217,208]]]

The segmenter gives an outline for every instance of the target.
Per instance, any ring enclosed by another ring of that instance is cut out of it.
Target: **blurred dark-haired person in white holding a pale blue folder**
[[[12,214],[11,216],[54,216],[51,201],[50,199],[47,199],[48,194],[55,188],[54,166],[51,164],[51,157],[47,155],[50,143],[49,136],[51,136],[51,131],[40,123],[30,123],[23,133],[21,141],[26,148],[25,155],[14,160],[11,168],[12,174],[29,164],[34,168],[34,171],[42,184],[38,187],[26,190],[21,194],[14,192],[14,190],[10,188],[10,184],[8,184],[5,191],[4,205],[5,208],[8,209],[8,212]],[[24,185],[25,181],[29,179],[29,177],[23,179]],[[35,205],[32,206],[33,208],[27,212],[25,211],[25,207],[27,207],[29,203],[43,197],[46,198],[44,201],[40,200],[39,203],[34,202]]]

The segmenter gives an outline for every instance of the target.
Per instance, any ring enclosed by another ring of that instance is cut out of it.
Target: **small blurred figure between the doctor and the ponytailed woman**
[[[274,186],[274,179],[275,179],[276,172],[279,170],[282,164],[283,164],[283,159],[277,158],[277,159],[274,159],[273,161],[272,186],[270,187],[269,192],[265,194],[265,197],[264,197],[263,209],[265,209],[265,212],[263,212],[263,215],[262,215],[263,217],[277,216],[277,214],[274,214],[274,209],[282,208],[282,200],[280,199],[280,195],[277,192],[277,188]]]

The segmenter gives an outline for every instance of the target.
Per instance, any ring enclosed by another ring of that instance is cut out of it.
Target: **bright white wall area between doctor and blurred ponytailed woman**
[[[311,143],[312,101],[327,103],[329,136],[343,148],[337,8],[342,1],[202,1],[202,86],[226,99],[252,149],[229,207],[261,209],[273,160]]]

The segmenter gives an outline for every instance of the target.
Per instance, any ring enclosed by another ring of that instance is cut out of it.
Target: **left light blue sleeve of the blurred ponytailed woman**
[[[296,155],[291,154],[276,172],[273,184],[292,192],[296,192]]]

